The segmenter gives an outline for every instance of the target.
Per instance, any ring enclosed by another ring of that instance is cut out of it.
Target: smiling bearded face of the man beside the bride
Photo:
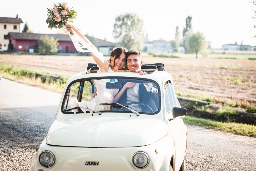
[[[131,54],[127,57],[127,68],[130,72],[141,71],[142,60],[139,56]]]

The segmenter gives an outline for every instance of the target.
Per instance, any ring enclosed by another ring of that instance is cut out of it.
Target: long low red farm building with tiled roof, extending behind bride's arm
[[[77,53],[77,50],[68,34],[39,34],[39,33],[16,33],[9,32],[6,39],[9,40],[8,50],[13,52],[38,52],[38,40],[41,36],[48,35],[59,42],[58,53]],[[97,39],[97,38],[96,38]],[[114,48],[112,42],[98,40],[99,52],[108,56]]]

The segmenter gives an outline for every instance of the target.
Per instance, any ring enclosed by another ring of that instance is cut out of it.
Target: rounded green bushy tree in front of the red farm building
[[[38,40],[38,50],[40,54],[52,55],[58,52],[58,40],[54,37],[49,37],[48,35],[41,36]]]

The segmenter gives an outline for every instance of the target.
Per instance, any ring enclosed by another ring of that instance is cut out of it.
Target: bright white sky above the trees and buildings
[[[182,34],[185,19],[192,16],[194,32],[200,31],[212,47],[221,48],[223,44],[243,44],[256,46],[256,34],[252,19],[256,5],[250,0],[65,0],[68,7],[77,12],[74,25],[84,34],[114,42],[112,36],[115,17],[126,12],[137,13],[144,21],[144,31],[149,40],[173,40],[178,26]],[[56,33],[45,23],[47,10],[54,0],[5,0],[0,4],[0,17],[16,17],[34,33]],[[23,27],[22,27],[23,29]]]

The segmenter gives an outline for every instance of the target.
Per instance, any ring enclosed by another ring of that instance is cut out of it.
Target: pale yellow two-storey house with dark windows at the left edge
[[[21,23],[23,21],[18,18],[0,17],[0,50],[7,50],[9,40],[5,39],[9,32],[21,32]]]

